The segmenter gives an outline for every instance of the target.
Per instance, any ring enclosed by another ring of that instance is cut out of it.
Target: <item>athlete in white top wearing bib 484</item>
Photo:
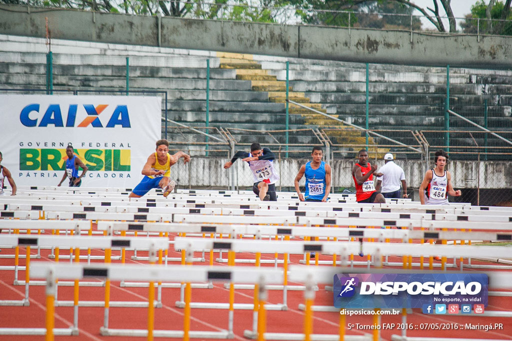
[[[419,187],[419,199],[421,204],[447,205],[448,195],[460,196],[460,190],[455,191],[452,186],[452,174],[444,170],[448,161],[448,154],[438,150],[434,154],[435,168],[425,173],[423,182]]]

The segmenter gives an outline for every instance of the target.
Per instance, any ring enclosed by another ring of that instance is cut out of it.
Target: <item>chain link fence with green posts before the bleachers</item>
[[[379,166],[392,152],[410,188],[419,187],[432,154],[443,149],[450,153],[454,187],[463,192],[454,201],[512,200],[508,69],[175,53],[2,52],[0,66],[9,77],[2,76],[0,93],[162,97],[162,138],[172,151],[193,156],[173,169],[182,188],[250,189],[244,163],[232,170],[223,165],[233,152],[259,142],[276,154],[276,186],[283,191],[294,190],[314,145],[325,147],[335,192],[353,190],[359,149]]]

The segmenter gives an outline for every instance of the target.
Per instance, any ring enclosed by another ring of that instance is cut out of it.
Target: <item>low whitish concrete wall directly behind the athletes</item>
[[[213,157],[193,157],[190,166],[179,162],[173,167],[172,177],[179,179],[179,183],[193,187],[222,187],[231,184],[231,170],[225,170],[222,166],[228,159]],[[276,186],[293,187],[295,175],[304,165],[307,159],[281,159],[276,160],[274,169],[280,175],[281,180]],[[335,160],[331,163],[332,179],[335,187],[354,187],[351,170],[355,160]],[[418,188],[424,176],[424,164],[421,161],[400,161],[396,163],[401,166],[406,174],[408,187]],[[377,163],[382,166],[383,161]],[[236,162],[233,166],[235,171],[235,183],[241,187],[250,187],[253,183],[252,174],[247,164]],[[432,167],[432,165],[431,165]],[[481,189],[510,189],[512,188],[512,162],[474,162],[474,161],[452,161],[449,165],[452,173],[452,184],[455,189],[477,188],[480,181]],[[301,181],[303,184],[304,179]]]

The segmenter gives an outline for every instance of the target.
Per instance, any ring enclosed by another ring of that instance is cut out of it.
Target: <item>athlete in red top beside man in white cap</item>
[[[377,166],[368,162],[368,152],[365,149],[359,150],[358,158],[359,162],[352,167],[357,202],[385,203],[386,199],[375,190],[373,182],[373,175],[377,176]]]

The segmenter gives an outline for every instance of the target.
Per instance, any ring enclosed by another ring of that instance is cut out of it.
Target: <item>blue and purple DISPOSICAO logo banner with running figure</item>
[[[336,308],[487,306],[485,274],[336,274],[333,284]]]

